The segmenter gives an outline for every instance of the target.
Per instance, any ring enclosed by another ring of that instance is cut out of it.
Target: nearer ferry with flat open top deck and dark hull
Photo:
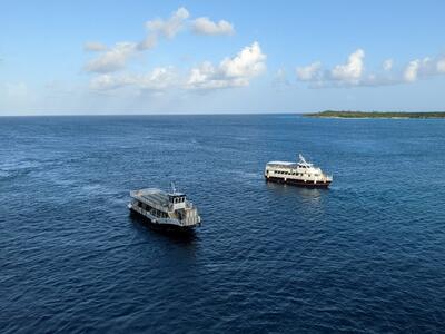
[[[201,225],[197,207],[178,193],[175,186],[170,193],[157,188],[130,191],[132,198],[128,208],[148,218],[154,227],[190,230]]]

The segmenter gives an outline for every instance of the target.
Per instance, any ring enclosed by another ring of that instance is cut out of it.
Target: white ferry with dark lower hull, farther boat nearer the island
[[[267,163],[265,178],[267,181],[289,184],[307,188],[327,188],[333,181],[333,176],[324,174],[320,168],[307,163],[301,155],[299,155],[298,163]]]

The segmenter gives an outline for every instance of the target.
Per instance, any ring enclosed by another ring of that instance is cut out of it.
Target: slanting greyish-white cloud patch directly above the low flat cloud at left
[[[89,72],[113,72],[122,69],[128,58],[132,57],[136,51],[136,43],[119,42],[98,58],[90,60],[85,68]]]

